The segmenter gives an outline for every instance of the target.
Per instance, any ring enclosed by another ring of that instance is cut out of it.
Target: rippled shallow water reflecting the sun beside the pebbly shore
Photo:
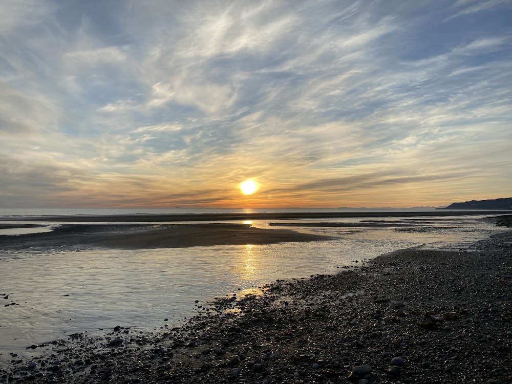
[[[217,295],[240,295],[276,279],[334,273],[337,267],[355,265],[355,260],[397,249],[473,242],[500,230],[494,224],[465,218],[372,220],[410,224],[376,228],[358,227],[359,221],[353,220],[354,227],[348,228],[292,228],[336,237],[322,242],[0,251],[0,293],[9,295],[0,298],[4,302],[0,303],[0,353],[4,352],[0,358],[7,358],[5,351],[23,351],[76,332],[100,332],[117,325],[141,331],[176,326]]]

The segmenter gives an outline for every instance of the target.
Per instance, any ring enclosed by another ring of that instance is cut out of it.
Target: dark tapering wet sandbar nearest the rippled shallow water
[[[207,245],[273,244],[328,237],[248,224],[68,224],[51,232],[0,236],[0,249],[75,250],[90,247],[148,249]]]

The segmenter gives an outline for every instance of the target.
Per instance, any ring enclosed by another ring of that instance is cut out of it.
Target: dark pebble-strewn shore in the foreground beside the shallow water
[[[262,294],[197,302],[179,328],[32,346],[5,383],[509,383],[512,231],[408,249]]]

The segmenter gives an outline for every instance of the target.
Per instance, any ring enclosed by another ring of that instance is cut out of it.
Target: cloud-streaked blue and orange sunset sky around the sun
[[[510,0],[0,0],[0,207],[445,206],[511,154]]]

